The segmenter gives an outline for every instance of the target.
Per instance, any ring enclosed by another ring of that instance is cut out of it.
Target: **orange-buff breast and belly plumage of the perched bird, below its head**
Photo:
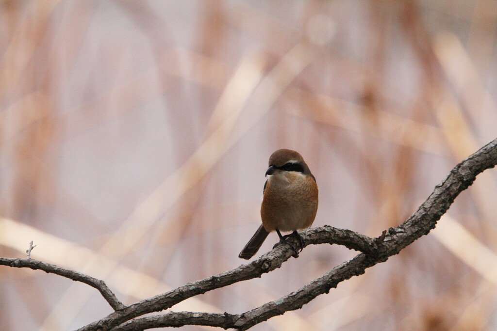
[[[299,172],[270,176],[260,207],[266,231],[310,227],[318,211],[318,193],[318,185],[311,176]]]

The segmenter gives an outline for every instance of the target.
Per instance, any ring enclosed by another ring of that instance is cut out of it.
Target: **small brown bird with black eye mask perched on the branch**
[[[297,250],[286,239],[296,236],[303,247],[304,240],[297,230],[310,227],[318,211],[318,184],[302,155],[291,149],[278,149],[271,154],[268,163],[260,206],[262,224],[240,252],[238,257],[241,259],[254,256],[272,231],[276,231],[280,239],[274,247],[286,243],[297,258]],[[281,231],[293,232],[283,236]]]

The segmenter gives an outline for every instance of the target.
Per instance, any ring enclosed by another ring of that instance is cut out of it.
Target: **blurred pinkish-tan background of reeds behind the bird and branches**
[[[33,240],[125,304],[237,267],[278,148],[317,178],[314,226],[379,236],[496,137],[496,41],[495,0],[0,1],[0,255]],[[496,177],[253,330],[497,330]],[[310,246],[172,310],[242,313],[356,254]],[[0,267],[1,330],[111,312],[87,285]]]

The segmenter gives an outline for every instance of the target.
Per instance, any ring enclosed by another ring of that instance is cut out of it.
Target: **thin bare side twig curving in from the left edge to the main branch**
[[[119,310],[125,307],[124,304],[119,301],[115,294],[112,293],[112,291],[107,287],[103,280],[87,276],[83,273],[34,259],[9,259],[0,257],[0,265],[8,265],[16,268],[31,268],[33,270],[39,269],[47,273],[55,273],[74,281],[80,281],[96,288],[114,310]]]

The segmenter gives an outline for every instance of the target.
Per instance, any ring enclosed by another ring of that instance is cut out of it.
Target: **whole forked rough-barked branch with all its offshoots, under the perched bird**
[[[145,330],[183,325],[205,325],[225,329],[247,330],[271,317],[282,315],[286,311],[300,309],[318,295],[328,293],[331,288],[336,287],[341,281],[360,275],[364,273],[366,268],[385,262],[390,256],[398,254],[402,249],[413,243],[414,240],[428,234],[436,226],[437,221],[447,211],[454,199],[473,183],[476,176],[486,169],[495,167],[496,164],[497,139],[459,163],[435,187],[431,195],[411,217],[401,225],[390,228],[388,233],[384,231],[378,238],[369,238],[350,230],[337,229],[331,226],[311,228],[301,232],[304,247],[310,244],[339,244],[362,253],[352,260],[332,268],[323,276],[311,281],[299,290],[243,314],[167,312],[163,315],[137,318],[144,314],[168,309],[195,295],[228,286],[235,282],[260,277],[263,273],[279,268],[294,253],[288,245],[279,245],[249,264],[187,283],[129,306],[124,306],[119,302],[102,281],[75,271],[63,269],[56,265],[44,264],[36,260],[0,258],[0,264],[39,268],[73,280],[83,281],[99,289],[116,311],[80,330],[110,330],[113,328],[115,330]],[[299,241],[292,237],[288,238],[288,240],[293,240],[292,244],[300,248]],[[64,272],[60,269],[64,270]],[[69,275],[68,272],[70,273]],[[91,282],[89,279],[91,279]],[[94,285],[95,282],[97,285]],[[111,300],[107,299],[109,295],[111,295]]]

